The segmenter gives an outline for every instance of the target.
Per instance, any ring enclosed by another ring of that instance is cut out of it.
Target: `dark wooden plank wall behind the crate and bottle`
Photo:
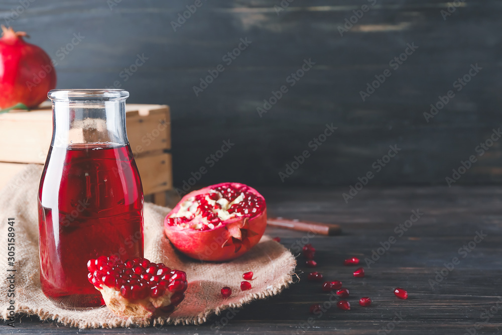
[[[18,0],[2,0],[0,21],[22,12],[9,23],[58,62],[58,88],[119,80],[129,102],[171,105],[177,186],[207,167],[205,158],[228,139],[235,146],[199,183],[283,185],[279,172],[326,123],[338,127],[335,134],[284,185],[354,184],[395,144],[402,151],[371,185],[445,185],[451,169],[501,125],[499,1],[463,2],[443,20],[443,1],[377,0],[343,37],[338,26],[368,1],[294,0],[277,15],[279,0],[202,0],[176,32],[171,21],[194,1],[118,1],[27,0],[23,9]],[[74,33],[84,38],[61,59],[58,49]],[[252,44],[226,66],[222,56],[246,37]],[[363,102],[359,91],[407,43],[419,48]],[[123,81],[120,71],[137,54],[148,60]],[[256,108],[305,58],[313,69],[260,118]],[[482,70],[427,123],[424,111],[476,63]],[[225,71],[195,96],[192,86],[218,64]],[[501,153],[496,142],[459,183],[502,181]]]

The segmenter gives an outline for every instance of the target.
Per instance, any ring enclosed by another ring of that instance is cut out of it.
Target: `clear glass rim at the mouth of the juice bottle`
[[[47,94],[52,101],[116,101],[126,100],[123,89],[53,89]]]

